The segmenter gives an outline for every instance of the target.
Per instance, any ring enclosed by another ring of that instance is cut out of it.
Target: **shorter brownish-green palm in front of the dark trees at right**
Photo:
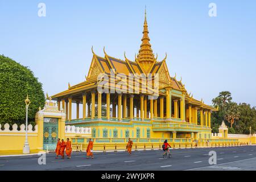
[[[233,123],[240,118],[240,111],[236,102],[230,102],[225,113],[225,118],[230,123],[231,127]]]

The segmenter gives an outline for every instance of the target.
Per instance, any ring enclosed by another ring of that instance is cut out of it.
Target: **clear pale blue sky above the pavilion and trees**
[[[46,3],[39,18],[38,3]],[[208,15],[216,3],[217,17]],[[97,55],[134,59],[141,44],[144,6],[154,53],[167,52],[194,98],[211,104],[222,90],[256,106],[256,1],[3,1],[0,54],[30,67],[49,95],[84,81]]]

